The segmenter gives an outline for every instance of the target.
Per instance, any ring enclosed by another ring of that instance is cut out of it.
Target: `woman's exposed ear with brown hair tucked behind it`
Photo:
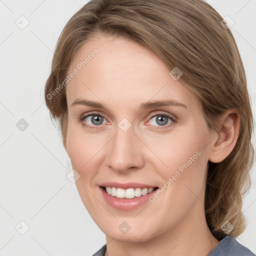
[[[239,134],[240,115],[235,109],[229,109],[222,115],[220,123],[219,132],[211,145],[211,162],[221,162],[233,150]]]

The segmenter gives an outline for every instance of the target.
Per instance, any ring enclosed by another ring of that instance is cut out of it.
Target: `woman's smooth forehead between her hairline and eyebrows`
[[[98,36],[76,52],[66,85],[67,103],[82,96],[130,106],[141,102],[174,99],[189,108],[197,97],[170,75],[165,63],[152,51],[125,38]]]

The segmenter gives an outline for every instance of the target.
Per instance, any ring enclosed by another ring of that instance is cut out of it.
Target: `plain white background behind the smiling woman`
[[[57,37],[86,2],[0,0],[1,256],[89,256],[105,243],[105,235],[87,213],[75,184],[65,176],[70,168],[68,157],[43,95]],[[256,1],[208,2],[222,17],[234,20],[230,29],[243,59],[254,111]],[[24,29],[15,24],[21,15],[29,21]],[[21,118],[28,123],[24,131],[16,127]],[[254,170],[243,203],[248,225],[237,240],[256,253]],[[24,234],[15,229],[21,220],[29,226]]]

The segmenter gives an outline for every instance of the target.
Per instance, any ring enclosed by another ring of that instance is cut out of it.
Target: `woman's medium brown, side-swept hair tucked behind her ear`
[[[233,237],[245,229],[242,195],[250,187],[254,158],[244,67],[234,37],[221,20],[203,0],[91,0],[63,28],[45,85],[46,105],[65,140],[67,103],[65,87],[59,85],[86,41],[99,34],[116,35],[147,47],[169,70],[178,67],[183,73],[179,81],[197,95],[209,128],[217,131],[219,116],[237,109],[240,128],[235,147],[223,161],[208,162],[205,216],[219,240],[226,235],[221,229],[226,220],[234,226],[229,233]]]

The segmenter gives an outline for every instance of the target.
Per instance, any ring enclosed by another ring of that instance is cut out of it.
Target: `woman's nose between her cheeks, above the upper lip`
[[[144,164],[142,147],[143,143],[134,133],[132,125],[126,131],[117,126],[115,135],[109,141],[107,166],[118,172],[141,168]]]

